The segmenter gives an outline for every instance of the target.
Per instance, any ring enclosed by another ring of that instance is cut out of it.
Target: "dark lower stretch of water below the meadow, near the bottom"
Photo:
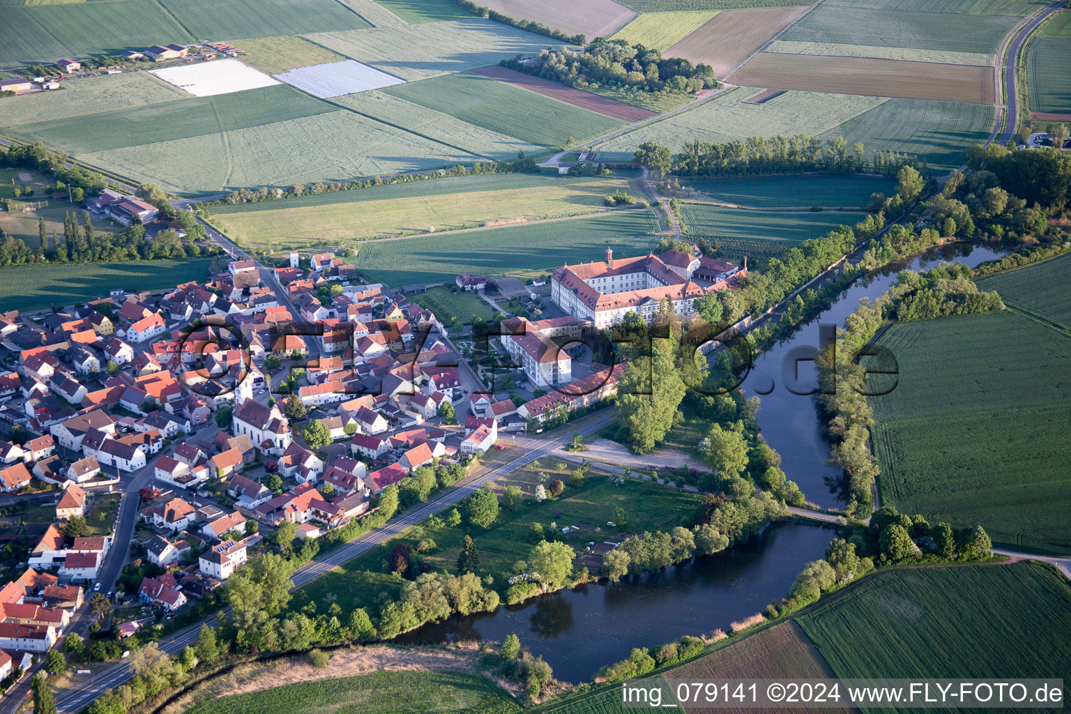
[[[495,612],[453,616],[397,639],[407,643],[501,641],[510,633],[541,655],[567,682],[591,679],[603,665],[682,635],[728,629],[729,623],[784,597],[803,564],[823,557],[834,531],[778,522],[713,556],[658,573],[598,582],[501,606]]]

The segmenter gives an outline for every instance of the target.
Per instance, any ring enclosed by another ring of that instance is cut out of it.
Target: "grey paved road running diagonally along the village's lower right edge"
[[[369,548],[374,548],[387,538],[390,538],[403,530],[419,523],[432,514],[453,506],[483,484],[501,478],[502,476],[523,466],[526,466],[527,464],[530,464],[538,458],[543,458],[552,454],[567,441],[572,439],[574,432],[580,431],[582,434],[592,434],[613,422],[614,419],[614,411],[602,412],[588,417],[582,423],[561,427],[558,429],[560,434],[556,434],[553,438],[526,439],[526,443],[533,445],[527,447],[522,456],[507,462],[506,459],[512,456],[512,452],[502,454],[495,461],[488,465],[488,468],[486,468],[483,472],[478,473],[477,475],[461,482],[458,485],[447,489],[438,497],[432,499],[420,507],[407,511],[380,528],[368,531],[349,544],[332,550],[323,557],[317,558],[316,560],[313,560],[312,562],[298,568],[292,576],[293,587],[300,588],[308,583],[328,571],[352,558],[356,558]],[[209,619],[207,622],[212,624],[214,621],[215,620],[213,618]],[[183,631],[164,638],[160,642],[160,649],[170,654],[179,652],[182,648],[192,643],[196,639],[200,623],[191,625]],[[77,712],[105,692],[110,692],[111,689],[123,684],[130,679],[130,677],[131,670],[125,663],[112,665],[108,669],[80,683],[80,688],[77,692],[72,692],[59,697],[57,699],[59,711],[63,714]]]

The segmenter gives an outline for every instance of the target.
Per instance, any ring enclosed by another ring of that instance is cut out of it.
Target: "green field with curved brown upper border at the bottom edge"
[[[206,697],[187,714],[410,714],[521,711],[509,694],[482,677],[464,672],[395,671],[289,684],[228,697]],[[433,704],[434,702],[434,704]]]

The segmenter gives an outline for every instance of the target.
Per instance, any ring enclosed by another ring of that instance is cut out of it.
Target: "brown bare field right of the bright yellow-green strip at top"
[[[683,57],[692,64],[709,64],[714,76],[724,77],[806,11],[806,7],[756,7],[721,12],[669,47],[665,56]]]

